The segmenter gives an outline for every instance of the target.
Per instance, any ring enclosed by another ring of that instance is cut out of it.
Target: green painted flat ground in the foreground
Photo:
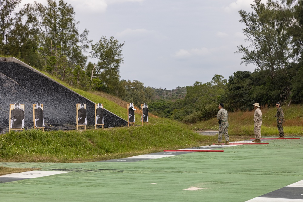
[[[303,138],[133,163],[0,163],[72,172],[0,184],[1,201],[246,201],[303,180]],[[155,184],[154,184],[155,183]],[[205,188],[195,191],[189,187]]]

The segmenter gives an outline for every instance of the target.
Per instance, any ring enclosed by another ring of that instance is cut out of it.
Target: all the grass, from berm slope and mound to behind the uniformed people
[[[45,73],[46,74],[46,73]],[[50,75],[48,75],[50,76]],[[50,76],[54,80],[60,80]],[[127,119],[127,103],[100,92],[86,92],[72,88],[95,103]],[[138,106],[137,106],[138,107]],[[283,107],[286,135],[301,135],[301,105]],[[276,135],[275,108],[264,108],[262,135]],[[203,146],[217,141],[217,136],[202,136],[199,129],[218,129],[214,118],[197,124],[182,124],[178,121],[150,115],[149,123],[141,125],[141,111],[136,111],[136,124],[131,127],[92,129],[79,131],[28,130],[0,136],[0,157],[2,162],[85,162],[124,158],[149,154],[165,149],[180,149]],[[253,137],[253,111],[229,114],[231,141]]]

